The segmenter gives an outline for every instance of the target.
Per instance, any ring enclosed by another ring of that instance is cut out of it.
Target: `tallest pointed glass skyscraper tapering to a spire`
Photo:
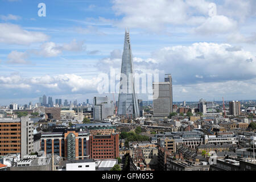
[[[121,66],[120,88],[118,96],[118,115],[139,117],[137,94],[135,94],[133,77],[133,55],[131,53],[130,35],[125,31],[125,43]]]

